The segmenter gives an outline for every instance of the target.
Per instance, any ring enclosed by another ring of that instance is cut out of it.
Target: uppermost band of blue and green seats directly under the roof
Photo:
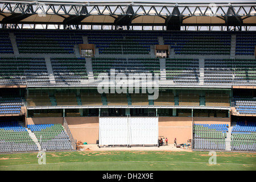
[[[121,53],[148,53],[149,47],[159,44],[158,38],[163,37],[164,44],[171,45],[176,54],[214,54],[229,55],[231,44],[230,32],[147,32],[143,31],[55,31],[47,30],[13,30],[16,43],[20,53],[68,53],[74,54],[74,46],[83,43],[82,36],[88,38],[89,43],[96,44],[102,48],[101,53],[112,52],[107,47],[119,45],[122,42],[124,48],[131,46],[131,52],[118,49]],[[1,32],[1,40],[5,45],[0,44],[0,53],[13,54],[9,32]],[[253,55],[255,46],[255,35],[248,36],[247,32],[236,32],[236,55]],[[133,48],[134,46],[134,48]],[[135,48],[137,47],[137,49]],[[146,48],[146,49],[144,49]],[[138,49],[142,49],[141,52]]]

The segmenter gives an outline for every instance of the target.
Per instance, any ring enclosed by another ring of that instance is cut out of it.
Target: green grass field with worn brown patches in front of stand
[[[217,164],[209,164],[209,152],[187,151],[82,151],[46,152],[46,164],[38,153],[1,154],[0,171],[255,171],[255,153],[216,152]]]

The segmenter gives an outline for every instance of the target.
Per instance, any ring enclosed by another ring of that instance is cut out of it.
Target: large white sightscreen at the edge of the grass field
[[[158,118],[101,117],[99,145],[157,145]]]

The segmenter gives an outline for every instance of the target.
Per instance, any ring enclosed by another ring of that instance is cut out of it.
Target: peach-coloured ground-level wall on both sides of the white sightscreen
[[[98,117],[65,117],[73,138],[82,143],[95,144],[98,140]],[[194,123],[203,124],[228,124],[230,118],[206,118],[194,117]],[[27,118],[27,124],[61,123],[63,118]],[[177,144],[185,143],[192,139],[191,117],[159,117],[159,136],[168,138],[168,144],[173,144],[177,138]]]

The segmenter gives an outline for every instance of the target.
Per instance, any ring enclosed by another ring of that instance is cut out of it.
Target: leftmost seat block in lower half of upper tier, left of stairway
[[[46,61],[31,57],[0,57],[0,85],[49,84]]]

